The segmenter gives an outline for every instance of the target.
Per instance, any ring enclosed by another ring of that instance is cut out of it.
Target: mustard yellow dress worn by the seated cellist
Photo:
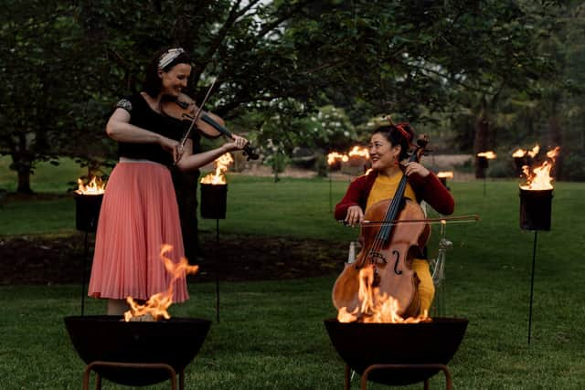
[[[369,206],[372,206],[379,201],[391,198],[396,193],[399,186],[402,174],[395,174],[393,176],[384,176],[378,174],[372,189],[367,196],[366,210]],[[409,198],[413,202],[416,202],[416,196],[410,184],[406,184],[404,190],[404,197]],[[432,299],[435,295],[435,286],[432,283],[431,271],[429,269],[429,261],[422,258],[414,258],[412,260],[412,269],[416,271],[417,276],[420,279],[419,283],[419,298],[420,298],[420,314],[424,311],[429,312],[431,308]]]

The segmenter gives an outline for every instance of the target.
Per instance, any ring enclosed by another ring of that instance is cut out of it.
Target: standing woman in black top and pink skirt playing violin
[[[173,261],[184,257],[169,168],[197,170],[247,143],[233,135],[216,149],[193,153],[192,139],[180,142],[185,123],[166,116],[162,103],[186,89],[190,62],[181,47],[156,53],[146,69],[144,90],[120,100],[106,125],[107,135],[118,142],[120,161],[101,205],[89,295],[107,299],[108,314],[126,311],[128,296],[147,300],[168,288],[171,276],[160,258],[163,244],[173,246],[166,255]],[[174,294],[174,302],[188,299],[185,278],[176,282]]]

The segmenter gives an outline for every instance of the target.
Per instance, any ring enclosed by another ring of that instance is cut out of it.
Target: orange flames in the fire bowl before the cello
[[[372,287],[374,282],[374,265],[370,264],[359,270],[359,290],[357,293],[360,306],[354,311],[347,311],[346,307],[339,309],[337,321],[340,322],[378,322],[378,323],[417,323],[431,321],[428,312],[424,311],[419,317],[400,317],[399,301],[387,293],[380,294],[378,287]]]

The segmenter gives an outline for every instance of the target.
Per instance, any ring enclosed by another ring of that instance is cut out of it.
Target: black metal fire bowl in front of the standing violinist
[[[195,358],[210,325],[211,321],[194,318],[125,322],[122,316],[65,317],[71,343],[86,364],[168,364],[177,374]],[[121,385],[153,385],[169,379],[165,370],[95,367],[94,371]]]

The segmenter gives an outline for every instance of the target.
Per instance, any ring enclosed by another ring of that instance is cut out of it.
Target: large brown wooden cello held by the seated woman
[[[409,162],[419,162],[428,142],[426,136],[420,137]],[[361,227],[362,249],[356,262],[346,264],[332,291],[337,310],[345,307],[352,312],[360,308],[359,270],[372,266],[372,287],[378,288],[380,295],[387,294],[398,300],[398,314],[402,318],[419,315],[419,279],[412,269],[412,260],[426,246],[431,227],[419,204],[404,197],[406,184],[407,176],[403,174],[394,197],[368,207],[364,219],[380,223]],[[400,221],[409,223],[400,224]]]

